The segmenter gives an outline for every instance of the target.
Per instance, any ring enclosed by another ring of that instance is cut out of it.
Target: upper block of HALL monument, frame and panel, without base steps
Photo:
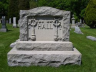
[[[33,23],[30,23],[31,21]],[[69,24],[70,11],[62,11],[52,7],[20,10],[20,40],[69,41]],[[56,29],[58,30],[56,31]]]

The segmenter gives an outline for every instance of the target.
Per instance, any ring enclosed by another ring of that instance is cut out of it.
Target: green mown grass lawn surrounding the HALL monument
[[[1,28],[1,24],[0,24]],[[7,24],[8,32],[0,32],[0,72],[96,72],[96,41],[91,41],[86,36],[95,36],[96,29],[88,26],[81,28],[84,34],[70,31],[70,41],[82,54],[82,64],[65,65],[60,67],[9,67],[7,64],[7,53],[11,50],[10,44],[19,38],[19,28],[13,28]]]

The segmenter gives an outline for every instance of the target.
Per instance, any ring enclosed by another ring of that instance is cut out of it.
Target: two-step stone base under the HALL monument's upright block
[[[18,41],[7,56],[9,66],[81,65],[81,53],[71,42]]]

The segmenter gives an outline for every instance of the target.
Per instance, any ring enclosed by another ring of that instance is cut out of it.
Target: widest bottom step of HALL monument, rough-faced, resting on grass
[[[9,66],[53,66],[81,64],[81,53],[73,51],[18,51],[15,47],[7,54]]]

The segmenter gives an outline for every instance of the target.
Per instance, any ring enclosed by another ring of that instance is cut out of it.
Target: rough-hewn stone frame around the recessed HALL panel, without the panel
[[[20,41],[28,41],[28,17],[53,16],[62,19],[62,40],[69,41],[70,11],[62,11],[52,7],[37,7],[30,10],[20,10]]]

